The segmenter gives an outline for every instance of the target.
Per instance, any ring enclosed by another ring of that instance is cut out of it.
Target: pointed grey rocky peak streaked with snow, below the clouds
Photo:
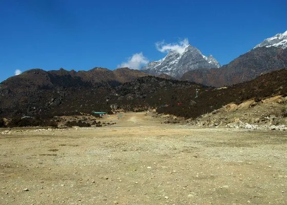
[[[142,67],[142,71],[155,76],[167,74],[174,78],[180,78],[188,71],[219,66],[220,64],[215,58],[204,56],[198,49],[188,45],[183,53],[170,51],[165,58]]]

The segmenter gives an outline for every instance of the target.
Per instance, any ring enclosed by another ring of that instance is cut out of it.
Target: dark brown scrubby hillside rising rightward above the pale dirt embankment
[[[198,117],[212,112],[229,103],[240,104],[254,99],[260,101],[271,96],[287,96],[287,70],[274,71],[258,78],[230,87],[200,89],[198,97],[192,101],[182,101],[180,105],[160,107],[159,113],[175,116]]]

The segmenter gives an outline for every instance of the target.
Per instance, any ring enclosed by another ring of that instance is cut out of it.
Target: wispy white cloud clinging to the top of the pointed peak
[[[176,51],[177,53],[182,54],[188,45],[189,41],[187,38],[179,41],[178,43],[166,43],[164,40],[155,43],[156,49],[161,53]]]

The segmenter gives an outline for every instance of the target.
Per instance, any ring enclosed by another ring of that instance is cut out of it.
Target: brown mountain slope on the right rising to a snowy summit
[[[262,43],[220,69],[199,69],[183,74],[181,80],[221,87],[250,81],[261,74],[287,67],[287,32]]]

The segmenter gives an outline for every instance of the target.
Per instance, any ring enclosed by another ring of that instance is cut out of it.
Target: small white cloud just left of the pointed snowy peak
[[[136,53],[132,57],[129,57],[127,62],[122,62],[117,65],[117,67],[129,67],[130,69],[139,70],[142,65],[145,65],[148,62],[148,58],[142,53]]]

